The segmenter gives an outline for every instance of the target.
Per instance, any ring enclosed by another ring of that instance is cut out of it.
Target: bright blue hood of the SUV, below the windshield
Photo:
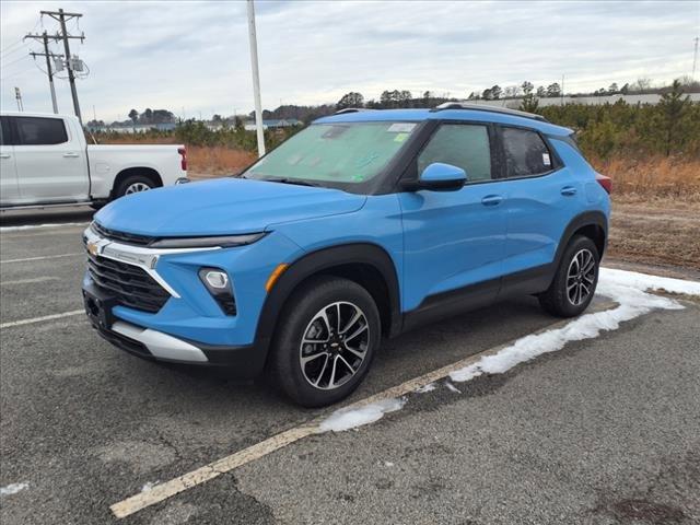
[[[350,213],[365,200],[338,189],[218,178],[129,195],[100,210],[95,219],[109,230],[137,235],[228,235]]]

